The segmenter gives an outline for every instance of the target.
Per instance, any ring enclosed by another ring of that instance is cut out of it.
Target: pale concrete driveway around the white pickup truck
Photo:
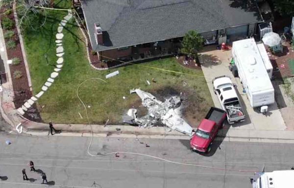
[[[287,128],[276,102],[269,106],[269,112],[266,116],[250,106],[246,94],[243,93],[240,79],[234,78],[231,71],[228,69],[229,60],[232,57],[231,50],[222,51],[217,50],[215,46],[210,46],[205,47],[203,51],[204,52],[200,53],[199,60],[216,107],[220,108],[221,105],[216,94],[213,92],[212,79],[217,76],[228,75],[231,77],[232,82],[237,84],[237,93],[239,93],[239,98],[243,103],[247,116],[245,121],[233,124],[233,128],[255,130],[285,130]]]

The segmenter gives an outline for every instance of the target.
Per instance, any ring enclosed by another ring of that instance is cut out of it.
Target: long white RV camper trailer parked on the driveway
[[[232,55],[251,107],[267,111],[274,103],[274,89],[255,40],[233,42]]]

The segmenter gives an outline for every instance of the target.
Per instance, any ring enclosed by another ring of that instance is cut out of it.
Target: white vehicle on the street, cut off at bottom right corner
[[[251,183],[252,188],[294,188],[294,170],[258,172]]]

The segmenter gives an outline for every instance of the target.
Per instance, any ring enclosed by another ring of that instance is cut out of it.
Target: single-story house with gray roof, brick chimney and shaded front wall
[[[99,60],[130,61],[176,53],[189,30],[204,45],[253,36],[263,19],[255,0],[83,0]]]

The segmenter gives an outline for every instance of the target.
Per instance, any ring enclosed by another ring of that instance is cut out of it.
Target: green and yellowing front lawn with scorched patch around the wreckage
[[[48,11],[46,24],[38,30],[23,31],[33,93],[41,91],[56,64],[55,34],[60,20],[66,11]],[[187,97],[184,110],[190,123],[199,122],[213,105],[207,84],[200,70],[192,70],[179,65],[174,58],[156,60],[140,65],[131,65],[108,71],[97,71],[90,67],[82,35],[72,19],[63,30],[65,35],[64,66],[49,90],[38,100],[38,109],[43,121],[55,123],[87,123],[85,111],[76,96],[78,85],[88,78],[102,78],[105,75],[120,71],[120,74],[101,81],[91,80],[80,87],[79,95],[89,106],[88,112],[92,123],[102,124],[110,119],[109,124],[122,123],[121,115],[128,108],[140,108],[140,98],[129,94],[133,88],[141,88],[163,99],[172,94],[185,94]],[[47,64],[45,54],[48,56]],[[51,64],[51,65],[50,65]],[[144,66],[180,71],[191,75],[158,71]],[[147,85],[154,78],[156,83]],[[187,83],[187,85],[184,84]],[[185,85],[185,86],[184,86]],[[123,99],[123,96],[126,99]],[[80,118],[79,114],[83,118]]]

